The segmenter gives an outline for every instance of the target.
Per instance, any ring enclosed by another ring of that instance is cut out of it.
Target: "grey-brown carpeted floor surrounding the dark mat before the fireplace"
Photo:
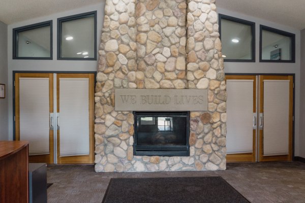
[[[226,171],[96,173],[93,165],[48,165],[48,203],[101,203],[111,178],[221,176],[251,202],[305,203],[305,163],[228,163]],[[118,191],[119,192],[119,191]]]

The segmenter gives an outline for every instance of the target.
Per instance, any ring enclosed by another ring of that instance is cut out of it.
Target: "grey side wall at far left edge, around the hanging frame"
[[[8,88],[8,25],[0,21],[0,84],[6,85]],[[9,127],[8,127],[8,91],[6,97],[0,98],[0,140],[8,140]]]

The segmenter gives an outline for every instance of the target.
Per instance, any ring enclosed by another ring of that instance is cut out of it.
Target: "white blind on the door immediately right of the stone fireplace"
[[[227,153],[253,152],[253,80],[227,80]]]

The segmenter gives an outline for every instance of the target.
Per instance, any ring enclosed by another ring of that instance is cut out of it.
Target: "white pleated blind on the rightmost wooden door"
[[[289,154],[289,80],[264,80],[263,155]]]

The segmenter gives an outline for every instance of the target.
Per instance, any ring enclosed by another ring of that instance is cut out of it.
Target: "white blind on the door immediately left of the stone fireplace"
[[[60,156],[89,154],[89,79],[59,78]]]

